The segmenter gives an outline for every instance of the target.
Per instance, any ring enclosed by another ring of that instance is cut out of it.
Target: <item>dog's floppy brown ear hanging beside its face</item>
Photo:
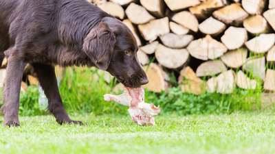
[[[116,36],[116,32],[111,31],[106,23],[100,23],[91,29],[84,40],[83,51],[101,70],[107,70],[111,62]]]

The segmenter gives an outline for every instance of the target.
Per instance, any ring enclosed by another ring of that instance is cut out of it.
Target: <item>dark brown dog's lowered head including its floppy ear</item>
[[[91,29],[83,50],[101,70],[107,70],[126,87],[137,88],[148,83],[146,73],[137,60],[137,41],[131,30],[111,17],[102,19]]]

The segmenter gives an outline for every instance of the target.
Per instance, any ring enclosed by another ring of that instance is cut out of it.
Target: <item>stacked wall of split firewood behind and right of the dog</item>
[[[140,47],[148,90],[275,89],[275,0],[92,0]],[[172,76],[170,74],[173,74]],[[174,80],[173,80],[174,78]],[[175,83],[175,78],[178,83]]]

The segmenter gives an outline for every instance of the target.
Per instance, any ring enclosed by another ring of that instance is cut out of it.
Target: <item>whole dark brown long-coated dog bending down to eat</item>
[[[56,64],[96,66],[131,88],[148,83],[131,30],[87,0],[0,0],[0,10],[0,64],[8,56],[4,126],[19,126],[19,92],[27,63],[34,66],[49,100],[47,109],[60,124],[83,123],[71,120],[63,107]]]

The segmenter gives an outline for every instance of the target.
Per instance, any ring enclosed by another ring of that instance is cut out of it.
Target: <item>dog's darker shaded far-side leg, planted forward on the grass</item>
[[[56,74],[54,66],[47,64],[32,64],[37,73],[40,86],[43,88],[44,93],[49,101],[47,109],[56,117],[56,122],[59,124],[74,123],[83,125],[81,121],[74,121],[69,118],[61,99],[58,90]]]

